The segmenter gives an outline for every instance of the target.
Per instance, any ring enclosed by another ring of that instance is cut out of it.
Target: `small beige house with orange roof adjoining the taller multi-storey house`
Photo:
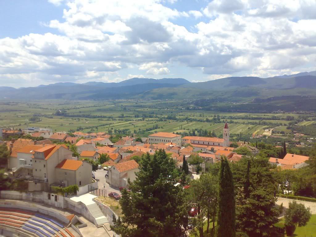
[[[55,183],[84,186],[92,182],[92,165],[87,161],[64,159],[55,167]]]

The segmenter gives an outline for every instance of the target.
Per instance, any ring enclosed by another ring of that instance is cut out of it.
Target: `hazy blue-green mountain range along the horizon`
[[[316,71],[268,78],[241,76],[207,82],[183,78],[131,78],[122,82],[58,82],[37,87],[0,87],[0,99],[215,99],[245,101],[274,96],[314,96]]]

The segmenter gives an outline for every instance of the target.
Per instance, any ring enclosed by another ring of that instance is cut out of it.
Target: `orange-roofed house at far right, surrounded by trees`
[[[283,159],[270,157],[269,163],[284,169],[297,169],[306,166],[307,160],[309,160],[309,156],[287,153]]]

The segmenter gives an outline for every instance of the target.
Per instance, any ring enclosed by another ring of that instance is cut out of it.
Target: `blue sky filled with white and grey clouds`
[[[0,86],[316,70],[316,0],[0,0]]]

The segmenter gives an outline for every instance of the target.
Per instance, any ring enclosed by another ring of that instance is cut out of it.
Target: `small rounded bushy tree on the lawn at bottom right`
[[[297,226],[306,226],[311,216],[312,214],[309,207],[306,208],[304,204],[299,204],[296,201],[289,202],[289,208],[285,212],[284,220],[285,226],[293,228],[286,228],[287,235],[291,236]]]

